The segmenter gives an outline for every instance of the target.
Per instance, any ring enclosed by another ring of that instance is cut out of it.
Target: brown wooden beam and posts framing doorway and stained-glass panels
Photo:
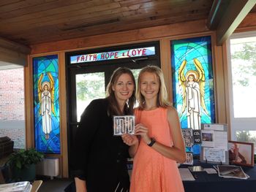
[[[256,15],[254,15],[256,18]],[[256,19],[255,19],[256,20]],[[251,28],[256,23],[252,23],[252,18],[249,19],[249,23],[243,23],[244,28]],[[216,45],[215,31],[208,31],[206,28],[206,20],[194,20],[187,23],[176,23],[166,26],[156,26],[151,28],[140,28],[131,31],[121,31],[113,34],[103,34],[93,37],[82,37],[77,39],[68,39],[59,42],[49,42],[39,45],[32,45],[29,66],[26,67],[26,106],[32,107],[31,96],[31,60],[35,56],[59,54],[59,91],[62,92],[60,99],[61,109],[61,170],[62,176],[68,177],[67,169],[67,106],[66,106],[66,82],[65,82],[65,59],[64,53],[71,50],[86,50],[97,47],[110,47],[115,45],[127,45],[138,42],[150,42],[159,40],[160,52],[161,52],[161,67],[165,75],[165,82],[167,84],[170,101],[172,100],[171,91],[172,85],[171,71],[170,71],[170,40],[172,39],[184,39],[189,37],[200,37],[205,35],[211,35],[213,37],[213,64],[214,64],[214,77],[215,77],[215,98],[216,98],[216,112],[217,123],[228,123],[228,94],[227,91],[227,79],[225,79],[225,66],[227,65],[225,49],[222,46]],[[225,46],[224,46],[225,47]],[[32,109],[32,108],[31,108]],[[26,112],[28,121],[26,124],[28,130],[28,137],[31,137],[33,132],[33,114],[30,111]],[[31,137],[31,140],[33,138]],[[28,140],[27,140],[28,142]],[[33,145],[32,142],[28,143]]]

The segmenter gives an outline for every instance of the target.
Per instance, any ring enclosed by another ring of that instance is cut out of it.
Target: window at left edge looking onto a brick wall
[[[24,71],[23,66],[13,66],[0,67],[0,137],[10,137],[15,148],[25,148]]]

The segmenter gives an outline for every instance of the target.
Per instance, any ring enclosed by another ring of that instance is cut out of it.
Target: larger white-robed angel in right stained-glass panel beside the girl
[[[201,107],[208,114],[205,104],[206,77],[203,66],[194,58],[196,70],[189,70],[184,74],[187,61],[184,60],[178,69],[178,85],[183,99],[180,116],[187,109],[188,128],[200,129]]]

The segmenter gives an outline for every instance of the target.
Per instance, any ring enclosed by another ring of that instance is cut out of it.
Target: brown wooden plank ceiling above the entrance
[[[29,46],[207,20],[213,4],[214,0],[1,0],[0,37]]]

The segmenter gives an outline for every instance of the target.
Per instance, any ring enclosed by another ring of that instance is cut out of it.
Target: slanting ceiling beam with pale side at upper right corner
[[[217,26],[217,45],[222,45],[256,4],[256,0],[233,0]]]

